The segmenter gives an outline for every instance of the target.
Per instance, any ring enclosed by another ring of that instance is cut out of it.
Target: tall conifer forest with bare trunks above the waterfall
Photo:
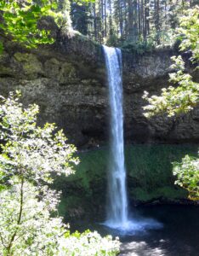
[[[71,1],[75,29],[100,44],[172,44],[179,17],[198,1],[186,0],[96,0]],[[135,47],[135,46],[134,46]]]

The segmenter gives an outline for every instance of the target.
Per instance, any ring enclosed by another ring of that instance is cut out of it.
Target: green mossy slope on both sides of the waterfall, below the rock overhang
[[[174,185],[171,162],[185,154],[195,155],[197,146],[134,145],[125,150],[128,172],[128,196],[132,203],[179,202],[187,198],[184,189]],[[97,218],[105,213],[108,149],[78,154],[81,163],[76,174],[59,177],[55,187],[61,189],[60,214]],[[68,211],[70,209],[70,212]]]

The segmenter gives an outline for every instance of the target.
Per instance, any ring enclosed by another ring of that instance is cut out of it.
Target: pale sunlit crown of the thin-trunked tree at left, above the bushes
[[[7,163],[4,172],[12,169],[14,174],[20,169],[21,175],[34,182],[38,179],[50,182],[51,172],[69,175],[72,169],[68,164],[78,163],[72,158],[76,148],[65,143],[63,132],[55,132],[54,124],[38,127],[38,106],[23,108],[19,96],[11,93],[1,105],[1,137],[6,143],[2,146],[0,164]]]

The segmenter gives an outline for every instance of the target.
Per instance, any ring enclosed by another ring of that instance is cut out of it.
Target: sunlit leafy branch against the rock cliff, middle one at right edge
[[[169,74],[169,81],[178,86],[163,88],[161,96],[149,97],[148,92],[145,91],[143,98],[150,103],[144,107],[147,118],[158,113],[166,112],[168,116],[173,116],[176,113],[188,112],[199,102],[199,84],[192,80],[189,73],[184,73],[185,62],[182,57],[173,56],[172,60],[174,61],[172,68],[178,71]]]

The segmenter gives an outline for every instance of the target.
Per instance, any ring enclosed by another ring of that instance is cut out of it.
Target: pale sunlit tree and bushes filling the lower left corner
[[[73,173],[76,148],[54,124],[37,126],[37,105],[23,108],[20,92],[1,96],[0,251],[3,255],[116,255],[118,241],[86,232],[70,235],[57,215],[52,174]],[[54,217],[53,217],[54,216]],[[94,247],[94,248],[93,248]]]

